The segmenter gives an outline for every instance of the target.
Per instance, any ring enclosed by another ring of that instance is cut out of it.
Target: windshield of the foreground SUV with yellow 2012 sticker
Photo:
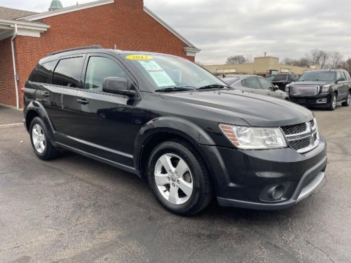
[[[127,54],[138,71],[153,85],[156,91],[180,91],[201,88],[224,88],[219,80],[197,64],[176,56]]]

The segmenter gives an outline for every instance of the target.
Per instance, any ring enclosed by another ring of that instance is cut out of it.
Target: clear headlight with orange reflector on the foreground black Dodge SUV
[[[240,149],[275,149],[287,147],[280,128],[256,128],[219,124],[224,135]]]

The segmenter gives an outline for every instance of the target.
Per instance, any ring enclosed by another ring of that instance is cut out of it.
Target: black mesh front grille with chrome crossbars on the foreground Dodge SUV
[[[306,153],[318,146],[318,130],[314,120],[280,127],[291,148]]]

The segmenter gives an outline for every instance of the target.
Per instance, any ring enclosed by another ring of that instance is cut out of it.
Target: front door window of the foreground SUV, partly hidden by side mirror
[[[102,91],[102,83],[106,77],[122,77],[127,79],[123,69],[114,61],[100,56],[91,56],[85,76],[85,88]]]

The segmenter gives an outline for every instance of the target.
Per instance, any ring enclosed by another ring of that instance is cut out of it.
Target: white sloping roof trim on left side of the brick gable
[[[86,4],[81,4],[81,5],[69,6],[69,7],[53,10],[53,11],[46,11],[43,13],[29,15],[29,16],[25,16],[22,18],[18,18],[18,19],[19,20],[34,21],[34,20],[43,19],[43,18],[47,18],[50,16],[54,16],[54,15],[66,14],[69,12],[74,12],[74,11],[78,11],[78,10],[82,10],[82,9],[103,6],[103,5],[113,4],[113,3],[114,3],[114,0],[100,0],[100,1],[90,2],[90,3],[86,3]]]

